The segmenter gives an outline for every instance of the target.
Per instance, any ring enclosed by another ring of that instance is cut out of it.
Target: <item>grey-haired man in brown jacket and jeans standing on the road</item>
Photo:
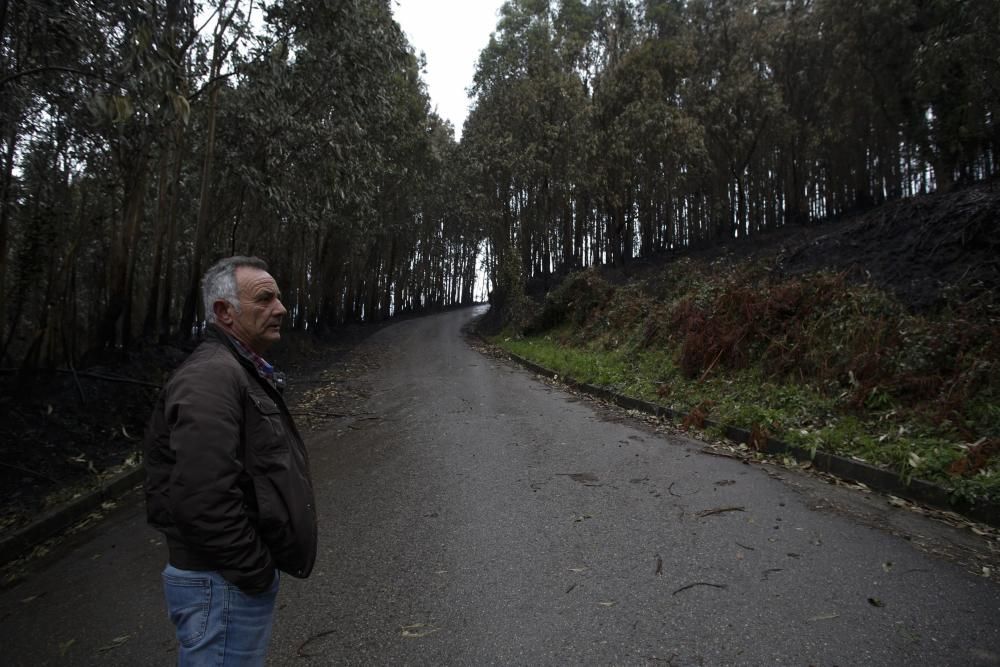
[[[267,265],[229,257],[202,279],[205,340],[160,394],[144,449],[149,523],[180,665],[263,665],[278,570],[307,577],[316,514],[305,446],[261,355],[287,312]]]

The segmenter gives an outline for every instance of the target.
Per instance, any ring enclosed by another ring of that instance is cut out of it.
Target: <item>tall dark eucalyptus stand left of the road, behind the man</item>
[[[215,258],[290,326],[472,301],[481,231],[388,0],[4,4],[0,358],[189,337]]]

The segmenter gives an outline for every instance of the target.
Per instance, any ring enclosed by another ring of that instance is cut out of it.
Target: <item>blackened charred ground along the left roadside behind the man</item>
[[[289,376],[286,398],[300,423],[349,413],[348,385],[366,362],[348,353],[375,330],[283,337],[270,360]],[[194,346],[141,346],[75,372],[0,376],[0,537],[138,463],[159,387]]]

